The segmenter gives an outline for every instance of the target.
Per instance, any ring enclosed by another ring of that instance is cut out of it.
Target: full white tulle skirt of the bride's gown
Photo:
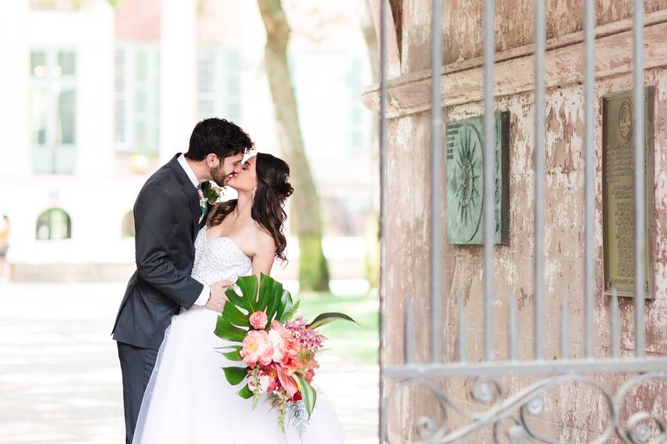
[[[215,348],[229,345],[213,334],[217,313],[199,308],[172,318],[141,405],[135,444],[343,443],[345,434],[327,398],[318,401],[306,432],[290,425],[283,433],[277,412],[261,399],[236,395],[222,367],[238,366]]]

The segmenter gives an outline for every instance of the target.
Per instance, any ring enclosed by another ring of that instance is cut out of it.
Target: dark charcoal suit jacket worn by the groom
[[[139,191],[134,204],[137,271],[113,326],[113,339],[158,350],[181,307],[195,303],[203,284],[190,277],[199,228],[199,196],[176,155]],[[208,182],[202,184],[206,193]]]

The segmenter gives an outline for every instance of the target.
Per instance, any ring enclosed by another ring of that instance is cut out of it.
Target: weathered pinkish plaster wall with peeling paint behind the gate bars
[[[471,2],[443,3],[446,63],[473,58],[481,53],[481,9],[472,10]],[[475,2],[481,3],[481,2]],[[528,44],[532,40],[532,2],[497,0],[498,49]],[[549,1],[547,37],[558,37],[580,30],[581,2]],[[466,8],[461,5],[466,4]],[[402,73],[409,82],[410,73],[429,67],[429,2],[404,1],[402,6]],[[647,1],[647,12],[667,10],[667,1]],[[517,13],[520,11],[520,14]],[[631,16],[629,1],[598,1],[598,24]],[[628,48],[628,51],[631,51]],[[650,52],[650,51],[649,51]],[[647,62],[650,60],[650,54]],[[524,73],[525,75],[525,73]],[[400,80],[400,79],[398,79]],[[656,234],[655,300],[645,308],[648,355],[667,356],[667,68],[648,69],[646,85],[655,86],[654,192]],[[479,85],[481,87],[481,85]],[[602,116],[600,98],[611,92],[632,88],[632,76],[607,75],[596,83],[595,176],[596,230],[596,348],[598,357],[609,356],[609,297],[602,295]],[[546,118],[546,228],[545,228],[545,357],[559,354],[559,312],[561,291],[569,295],[570,353],[584,356],[584,137],[583,89],[581,85],[563,85],[547,91]],[[510,126],[510,244],[495,249],[495,340],[497,359],[507,357],[507,296],[513,293],[518,305],[519,355],[532,358],[533,294],[533,144],[534,108],[531,92],[502,96],[496,109],[511,112]],[[443,109],[443,121],[481,114],[479,101]],[[409,113],[390,119],[388,126],[388,264],[386,284],[387,365],[403,363],[404,307],[411,300],[415,319],[416,360],[429,361],[429,244],[430,228],[430,134],[429,112]],[[444,129],[443,129],[444,138]],[[443,168],[443,176],[445,169]],[[443,183],[445,181],[443,180]],[[443,189],[443,196],[446,192]],[[446,203],[436,209],[443,214]],[[456,300],[463,295],[466,306],[468,359],[482,357],[483,314],[481,246],[443,244],[443,330],[444,355],[456,359]],[[621,347],[631,355],[633,342],[632,299],[620,298]],[[613,392],[625,376],[598,375]],[[507,391],[513,392],[530,379],[507,379]],[[387,388],[391,388],[390,384]],[[447,393],[462,407],[479,409],[470,401],[470,381],[450,382]],[[664,386],[648,384],[632,395],[627,405],[647,408],[665,417],[667,400]],[[547,398],[545,412],[535,418],[538,432],[563,442],[586,442],[598,436],[607,425],[607,407],[598,392],[581,384],[557,388]],[[425,389],[400,393],[389,412],[390,440],[407,442],[414,438],[413,426],[420,416],[437,411],[434,398]],[[629,411],[629,410],[628,410]],[[636,410],[634,410],[636,411]],[[452,425],[461,423],[456,416]],[[488,431],[467,442],[491,442]],[[616,441],[611,441],[616,442]]]

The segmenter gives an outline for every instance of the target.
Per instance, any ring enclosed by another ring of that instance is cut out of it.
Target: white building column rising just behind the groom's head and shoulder
[[[197,123],[197,5],[163,0],[160,27],[160,160],[187,151]]]

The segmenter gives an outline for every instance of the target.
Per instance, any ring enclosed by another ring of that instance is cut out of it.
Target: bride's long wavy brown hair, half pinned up
[[[250,214],[252,219],[273,237],[276,244],[276,257],[284,261],[287,259],[285,257],[287,240],[283,234],[283,225],[287,219],[285,200],[294,192],[292,185],[288,182],[290,166],[273,155],[257,153],[255,172],[257,188]],[[218,225],[234,208],[236,208],[236,199],[217,204],[207,225]]]

